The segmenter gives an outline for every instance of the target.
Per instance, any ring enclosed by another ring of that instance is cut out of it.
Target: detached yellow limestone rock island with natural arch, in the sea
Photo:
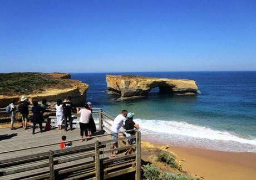
[[[107,91],[121,95],[119,100],[143,97],[152,88],[160,93],[196,95],[198,86],[193,80],[150,78],[145,76],[106,75]]]

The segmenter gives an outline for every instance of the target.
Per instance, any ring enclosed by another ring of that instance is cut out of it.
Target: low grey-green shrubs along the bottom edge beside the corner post
[[[150,180],[201,180],[200,178],[189,178],[183,174],[177,174],[172,172],[162,172],[160,168],[147,164],[143,169],[143,179]]]

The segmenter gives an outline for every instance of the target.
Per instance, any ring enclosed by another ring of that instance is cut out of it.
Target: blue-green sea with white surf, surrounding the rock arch
[[[143,75],[195,80],[196,96],[159,94],[116,101],[107,94],[105,75]],[[87,101],[118,115],[134,112],[142,138],[172,146],[219,151],[256,152],[256,71],[80,73],[72,79],[89,85]]]

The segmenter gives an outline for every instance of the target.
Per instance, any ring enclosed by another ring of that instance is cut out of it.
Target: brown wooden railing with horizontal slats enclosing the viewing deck
[[[94,143],[82,146],[35,153],[29,156],[2,159],[7,153],[18,153],[18,151],[36,152],[40,147],[59,145],[51,143],[36,147],[21,148],[0,152],[0,179],[108,179],[122,174],[135,172],[135,179],[140,179],[141,167],[141,134],[135,130],[135,135],[126,137],[129,131],[118,132],[116,140],[104,140],[105,136],[115,133],[110,131],[114,117],[102,109],[93,109],[93,116],[99,121],[99,131],[105,131],[104,135],[93,136]],[[1,130],[0,130],[1,131]],[[130,130],[131,131],[131,130]],[[132,130],[134,131],[134,130]],[[86,138],[85,138],[86,139]],[[134,139],[135,144],[127,143],[128,139]],[[74,142],[72,140],[67,142]],[[111,143],[118,141],[118,156],[111,158]],[[133,151],[130,155],[124,152],[130,148]]]

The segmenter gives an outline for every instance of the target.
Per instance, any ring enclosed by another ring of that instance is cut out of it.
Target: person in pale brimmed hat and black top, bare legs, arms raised
[[[18,106],[19,113],[21,114],[22,119],[22,127],[24,130],[27,129],[27,122],[28,122],[28,107],[32,105],[32,100],[28,99],[25,96],[21,97],[21,103]]]

